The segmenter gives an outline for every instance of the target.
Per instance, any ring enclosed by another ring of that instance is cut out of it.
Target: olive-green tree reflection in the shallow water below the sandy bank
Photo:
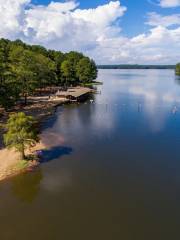
[[[32,203],[38,196],[42,171],[37,168],[34,172],[24,173],[12,179],[13,194],[21,201]]]

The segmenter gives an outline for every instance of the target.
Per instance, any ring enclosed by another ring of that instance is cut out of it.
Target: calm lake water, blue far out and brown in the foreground
[[[180,239],[180,79],[98,79],[94,103],[44,123],[42,165],[0,184],[0,240]]]

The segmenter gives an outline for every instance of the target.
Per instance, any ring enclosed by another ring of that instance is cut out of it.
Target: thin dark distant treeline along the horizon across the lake
[[[98,65],[98,69],[175,69],[175,65]]]

